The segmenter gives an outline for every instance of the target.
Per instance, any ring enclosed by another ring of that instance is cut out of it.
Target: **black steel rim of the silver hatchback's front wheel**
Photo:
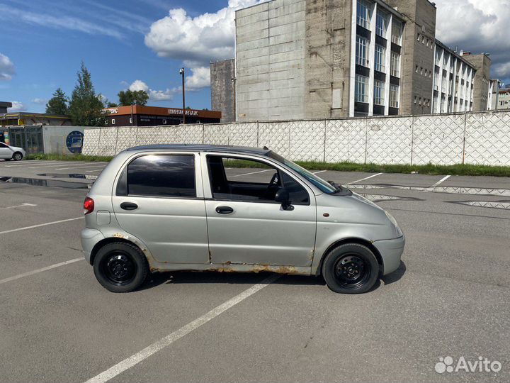
[[[348,289],[361,287],[370,279],[370,265],[356,254],[346,254],[340,257],[334,265],[334,277]]]

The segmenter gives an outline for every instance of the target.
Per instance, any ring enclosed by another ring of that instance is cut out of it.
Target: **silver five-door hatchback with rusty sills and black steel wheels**
[[[334,292],[363,293],[397,270],[405,243],[389,213],[267,148],[125,150],[84,213],[86,260],[111,292],[196,270],[322,274]]]

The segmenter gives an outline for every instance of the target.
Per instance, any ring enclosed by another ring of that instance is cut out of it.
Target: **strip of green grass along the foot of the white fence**
[[[98,155],[27,155],[26,160],[58,160],[58,161],[111,161],[113,156]],[[339,172],[368,172],[368,173],[411,173],[429,175],[467,175],[467,176],[493,176],[510,177],[510,166],[488,166],[488,165],[375,165],[355,164],[353,162],[303,162],[296,161],[307,170],[336,170]],[[256,162],[244,160],[229,160],[225,163],[227,167],[249,167],[261,168]]]

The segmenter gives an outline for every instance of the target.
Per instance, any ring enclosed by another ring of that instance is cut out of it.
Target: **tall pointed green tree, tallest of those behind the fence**
[[[104,126],[103,102],[94,91],[91,74],[84,62],[77,73],[78,81],[69,102],[69,115],[76,126]]]

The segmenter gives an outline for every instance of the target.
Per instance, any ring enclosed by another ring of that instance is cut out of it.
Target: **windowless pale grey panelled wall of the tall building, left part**
[[[305,0],[236,12],[237,121],[305,116]]]

